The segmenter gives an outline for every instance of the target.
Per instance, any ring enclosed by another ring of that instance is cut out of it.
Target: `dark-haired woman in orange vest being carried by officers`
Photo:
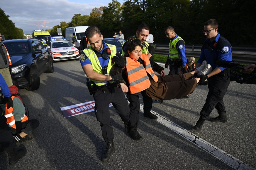
[[[141,54],[141,42],[137,39],[129,39],[127,53],[125,54],[124,62],[127,76],[127,85],[120,83],[119,86],[123,92],[131,94],[139,93],[145,90],[146,94],[157,100],[170,100],[191,94],[200,78],[194,78],[195,73],[192,71],[182,75],[155,75],[151,68],[151,63],[148,56]],[[119,60],[114,56],[115,63]],[[116,67],[113,67],[115,69]]]

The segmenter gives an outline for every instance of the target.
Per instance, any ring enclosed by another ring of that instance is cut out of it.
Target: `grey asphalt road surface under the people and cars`
[[[166,70],[168,74],[169,70]],[[77,60],[54,63],[54,73],[40,76],[36,91],[20,90],[29,118],[38,119],[27,154],[15,165],[7,152],[0,153],[0,169],[255,169],[256,85],[230,82],[224,97],[227,123],[206,121],[201,132],[193,130],[208,88],[198,85],[188,99],[153,100],[157,120],[140,112],[138,132],[131,139],[113,107],[115,153],[101,162],[105,142],[94,112],[64,118],[60,107],[92,101],[86,77]],[[140,96],[143,105],[142,96]],[[210,117],[216,117],[213,110]]]

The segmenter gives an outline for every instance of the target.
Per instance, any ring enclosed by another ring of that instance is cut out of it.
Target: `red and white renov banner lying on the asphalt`
[[[62,111],[63,117],[70,117],[74,115],[80,115],[83,113],[93,112],[94,106],[95,106],[95,102],[93,100],[90,102],[80,103],[76,105],[60,107],[60,109]],[[109,107],[112,107],[112,106],[113,106],[112,103],[110,103]]]

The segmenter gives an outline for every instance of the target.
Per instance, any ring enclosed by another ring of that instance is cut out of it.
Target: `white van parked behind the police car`
[[[68,27],[66,28],[66,39],[76,47],[80,47],[80,41],[85,36],[85,30],[88,26]]]

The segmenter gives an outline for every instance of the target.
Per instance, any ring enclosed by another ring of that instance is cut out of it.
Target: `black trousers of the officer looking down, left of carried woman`
[[[100,122],[102,136],[105,142],[114,138],[113,127],[110,121],[109,104],[112,103],[116,112],[123,122],[129,122],[129,106],[123,91],[117,87],[107,89],[107,91],[93,91],[95,101],[94,112]]]

